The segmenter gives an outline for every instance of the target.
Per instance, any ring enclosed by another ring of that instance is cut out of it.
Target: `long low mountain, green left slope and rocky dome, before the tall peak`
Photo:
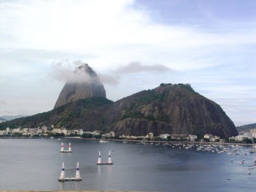
[[[117,135],[237,135],[234,123],[223,109],[196,93],[189,84],[161,84],[116,102],[104,97],[80,99],[46,113],[2,123],[0,128],[52,124],[67,129],[114,131]]]

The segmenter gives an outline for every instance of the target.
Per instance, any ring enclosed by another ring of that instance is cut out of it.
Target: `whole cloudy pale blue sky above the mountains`
[[[88,63],[107,98],[189,83],[256,123],[254,0],[0,0],[0,116],[53,109]]]

